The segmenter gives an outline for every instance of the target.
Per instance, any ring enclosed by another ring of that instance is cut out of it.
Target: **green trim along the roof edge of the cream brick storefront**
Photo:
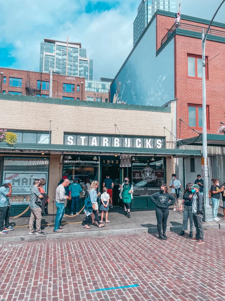
[[[165,113],[171,112],[171,108],[169,108],[169,107],[165,108],[165,107],[154,107],[154,106],[143,106],[143,105],[139,106],[139,105],[121,104],[121,103],[99,103],[99,102],[84,101],[84,100],[44,98],[44,97],[25,96],[25,95],[0,94],[0,99],[9,100],[9,101],[32,102],[32,103],[51,103],[51,104],[59,104],[59,105],[64,105],[64,106],[68,105],[68,106],[165,112]]]

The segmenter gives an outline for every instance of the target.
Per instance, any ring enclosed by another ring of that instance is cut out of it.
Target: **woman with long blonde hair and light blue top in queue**
[[[98,218],[98,202],[97,202],[97,198],[98,196],[101,194],[100,192],[97,194],[96,189],[98,188],[98,181],[93,181],[91,183],[91,187],[89,190],[89,196],[91,199],[91,203],[92,203],[92,210],[93,210],[93,214],[95,216],[95,224],[99,227],[102,228],[104,227],[105,224],[100,223],[99,218]],[[84,228],[86,229],[90,229],[90,227],[88,226],[88,216],[86,215],[85,221],[84,221]]]

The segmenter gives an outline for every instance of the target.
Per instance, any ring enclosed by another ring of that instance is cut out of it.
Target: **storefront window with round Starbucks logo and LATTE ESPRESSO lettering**
[[[134,157],[132,178],[134,195],[150,195],[159,191],[164,184],[164,158]]]

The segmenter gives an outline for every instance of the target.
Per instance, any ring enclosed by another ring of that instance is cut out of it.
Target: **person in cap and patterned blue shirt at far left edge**
[[[0,187],[0,234],[7,234],[14,230],[9,225],[10,203],[9,197],[12,195],[12,184],[10,180],[5,180]],[[4,226],[5,221],[5,226]]]

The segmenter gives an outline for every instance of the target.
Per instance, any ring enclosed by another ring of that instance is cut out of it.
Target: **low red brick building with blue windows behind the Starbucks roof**
[[[0,93],[51,97],[50,73],[0,68]],[[52,98],[108,102],[108,93],[85,91],[85,78],[53,73]]]

